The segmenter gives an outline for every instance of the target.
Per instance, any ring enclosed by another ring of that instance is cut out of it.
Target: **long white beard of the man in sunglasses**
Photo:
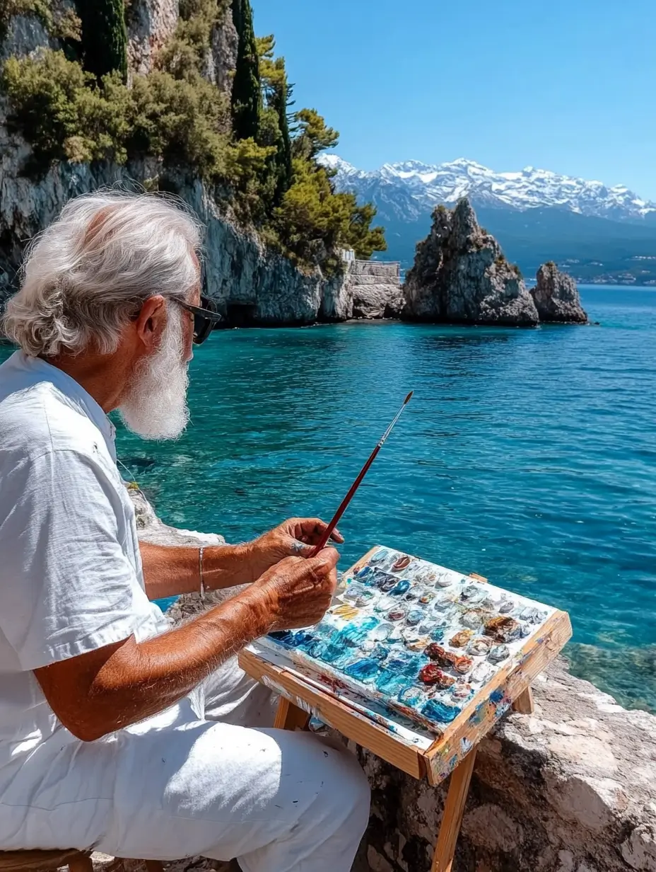
[[[118,409],[125,426],[143,439],[178,439],[189,423],[188,364],[182,358],[181,312],[169,306],[159,348],[139,364]]]

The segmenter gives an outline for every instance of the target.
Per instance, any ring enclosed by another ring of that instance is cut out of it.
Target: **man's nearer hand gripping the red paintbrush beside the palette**
[[[258,610],[267,611],[270,630],[312,626],[332,601],[338,560],[335,548],[323,548],[309,559],[286,557],[254,582],[247,598]]]

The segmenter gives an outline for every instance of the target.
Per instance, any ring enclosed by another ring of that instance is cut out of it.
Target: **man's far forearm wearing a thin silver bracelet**
[[[148,599],[197,593],[200,590],[200,547],[140,542]],[[203,580],[207,590],[232,588],[254,581],[248,545],[206,545]]]

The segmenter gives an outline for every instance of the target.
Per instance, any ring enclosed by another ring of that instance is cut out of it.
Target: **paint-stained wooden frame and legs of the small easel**
[[[348,573],[355,575],[374,550]],[[487,581],[475,573],[470,575]],[[544,623],[539,637],[527,640],[520,657],[497,671],[427,750],[403,743],[395,733],[364,717],[328,689],[322,690],[314,682],[306,683],[296,671],[272,664],[248,649],[241,651],[239,659],[248,675],[280,693],[274,726],[285,730],[307,729],[308,712],[312,712],[347,739],[415,778],[427,778],[429,784],[438,785],[450,776],[431,872],[451,872],[480,740],[509,709],[523,714],[533,712],[531,682],[570,638],[569,616],[563,611],[555,612]]]

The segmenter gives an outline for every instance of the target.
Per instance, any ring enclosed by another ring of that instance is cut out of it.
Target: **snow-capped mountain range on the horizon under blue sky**
[[[559,208],[612,221],[640,221],[656,213],[656,203],[646,201],[624,185],[606,187],[549,170],[524,167],[515,173],[496,173],[474,160],[459,158],[432,166],[418,160],[384,164],[365,172],[336,154],[322,158],[335,169],[338,189],[373,201],[382,217],[404,221],[444,203],[454,205],[468,196],[475,207],[519,209]]]

